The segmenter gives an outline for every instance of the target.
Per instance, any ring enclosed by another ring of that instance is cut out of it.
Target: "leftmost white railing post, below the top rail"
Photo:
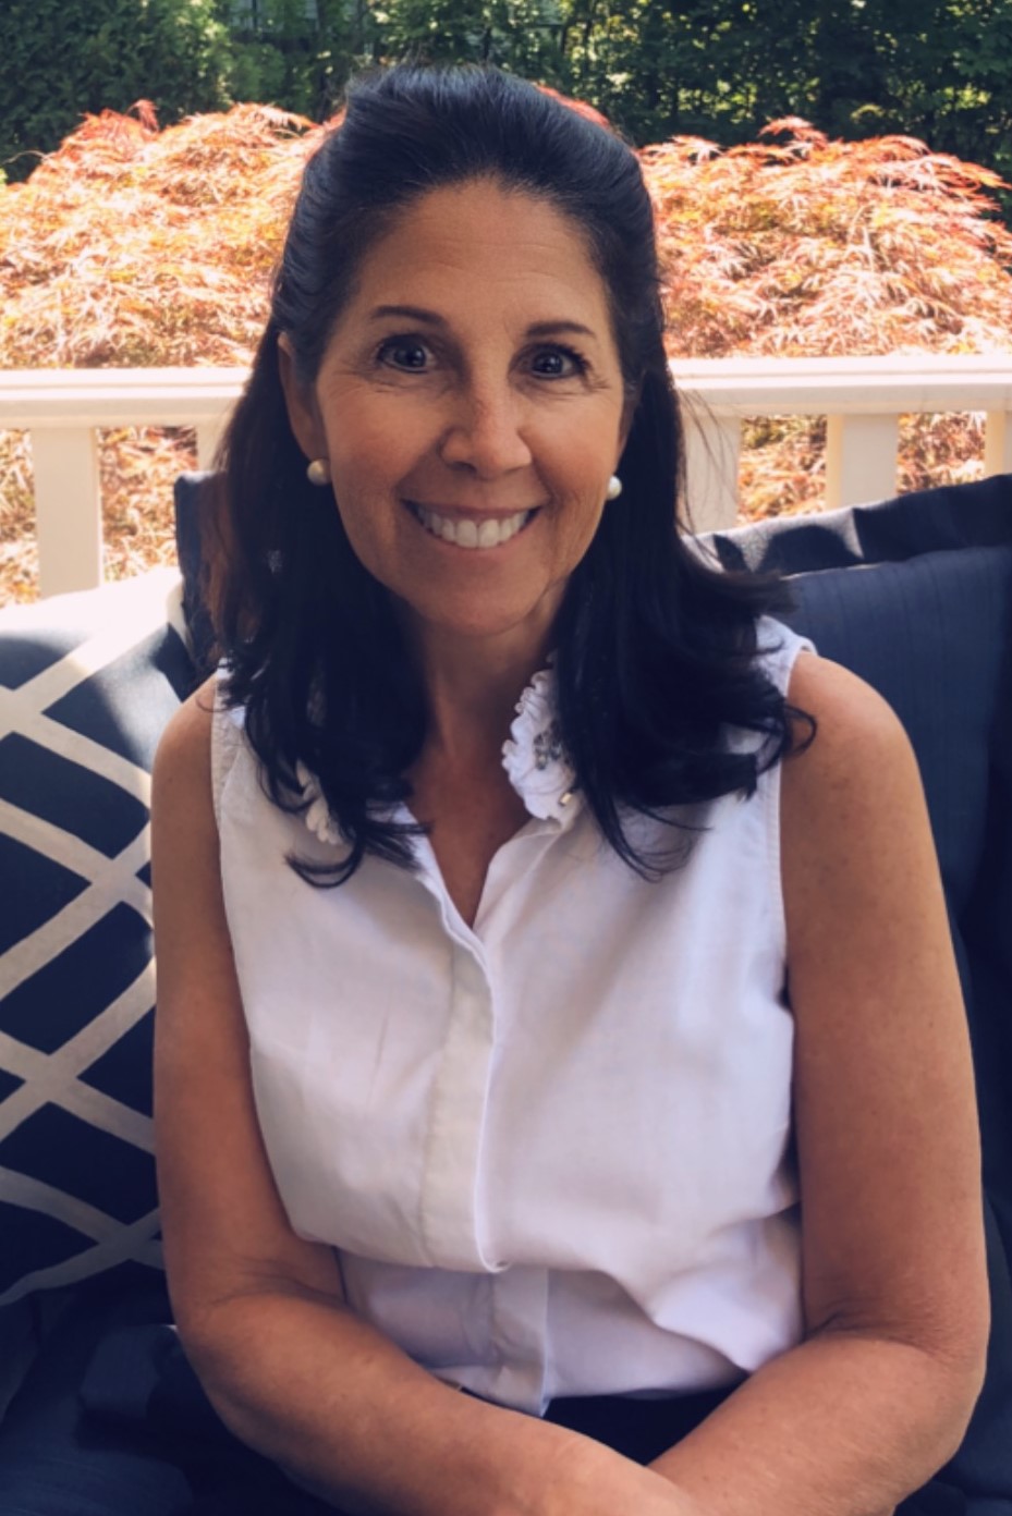
[[[38,593],[93,590],[102,584],[102,496],[94,429],[35,426],[30,438]]]

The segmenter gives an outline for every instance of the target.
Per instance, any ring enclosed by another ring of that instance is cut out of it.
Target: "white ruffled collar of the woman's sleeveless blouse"
[[[502,767],[533,817],[569,826],[578,811],[577,775],[563,749],[551,658],[516,703],[510,735],[502,744]],[[341,846],[344,838],[317,776],[299,763],[296,779],[302,785],[302,820],[308,829],[322,843]]]

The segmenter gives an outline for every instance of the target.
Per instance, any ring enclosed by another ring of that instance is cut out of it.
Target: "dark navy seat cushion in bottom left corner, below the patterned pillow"
[[[340,1516],[225,1428],[164,1281],[88,1280],[0,1425],[5,1516]]]

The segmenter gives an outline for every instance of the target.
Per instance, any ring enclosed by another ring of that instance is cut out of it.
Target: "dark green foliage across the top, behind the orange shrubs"
[[[6,0],[0,164],[85,111],[235,100],[320,120],[347,74],[482,61],[589,100],[637,144],[803,117],[906,133],[1012,179],[1012,0]]]

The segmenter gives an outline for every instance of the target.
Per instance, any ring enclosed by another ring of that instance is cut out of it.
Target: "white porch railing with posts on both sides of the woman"
[[[698,529],[737,512],[742,421],[825,415],[825,503],[897,488],[901,415],[985,412],[985,473],[1012,471],[1012,355],[991,358],[725,358],[672,364],[686,400],[689,497]],[[0,429],[26,429],[35,464],[39,593],[102,581],[100,426],[196,426],[206,465],[246,371],[76,368],[0,373]]]

